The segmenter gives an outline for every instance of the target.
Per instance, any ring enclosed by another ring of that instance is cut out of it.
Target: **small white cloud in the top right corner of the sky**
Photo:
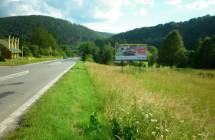
[[[187,4],[185,7],[187,7],[188,9],[202,10],[212,5],[215,5],[215,0],[198,0],[193,3]]]

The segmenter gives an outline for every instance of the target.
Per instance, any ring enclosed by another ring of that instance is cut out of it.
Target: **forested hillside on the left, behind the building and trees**
[[[59,44],[73,44],[81,41],[109,37],[111,34],[96,32],[82,25],[48,16],[16,16],[0,18],[0,37],[18,36],[29,41],[36,26],[52,33]]]

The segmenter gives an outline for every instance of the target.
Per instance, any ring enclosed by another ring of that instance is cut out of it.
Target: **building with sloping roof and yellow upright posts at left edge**
[[[21,50],[19,49],[19,38],[10,37],[0,39],[0,56],[6,59],[15,59],[19,57]]]

